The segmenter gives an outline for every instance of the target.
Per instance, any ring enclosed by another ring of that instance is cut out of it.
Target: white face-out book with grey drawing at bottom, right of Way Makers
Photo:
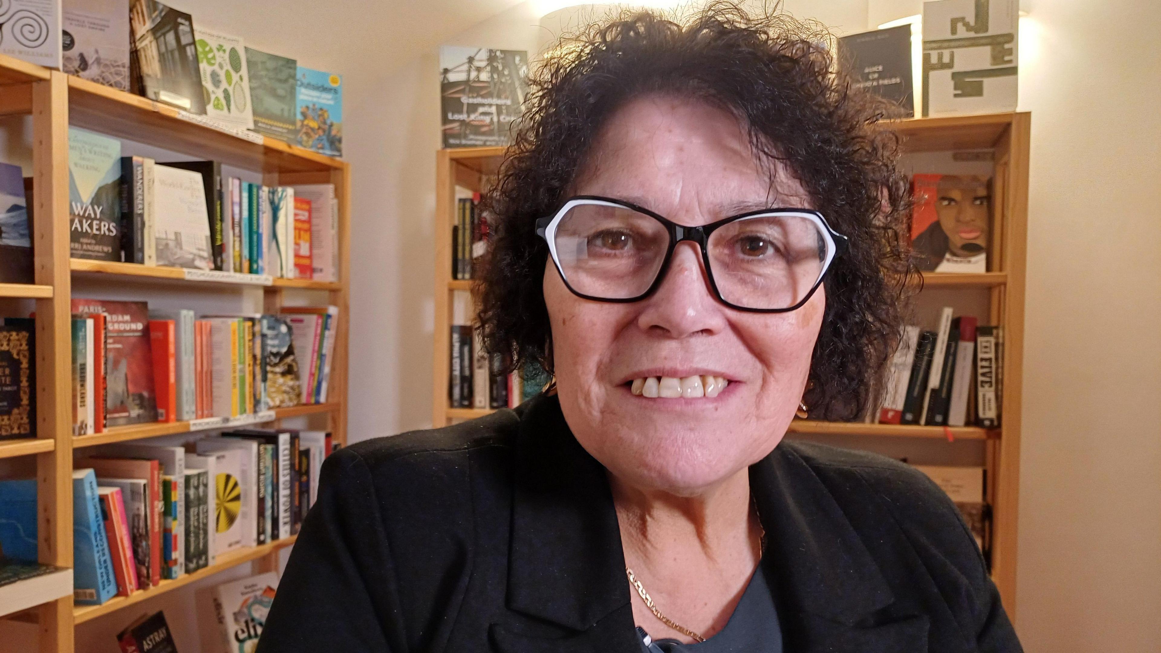
[[[157,265],[212,270],[202,175],[157,164],[153,166],[153,193]]]

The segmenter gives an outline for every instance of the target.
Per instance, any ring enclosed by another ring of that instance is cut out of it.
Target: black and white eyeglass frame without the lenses
[[[641,293],[635,297],[598,297],[593,295],[586,295],[584,293],[578,292],[576,288],[572,287],[571,284],[569,284],[568,275],[565,275],[564,271],[561,268],[561,263],[556,256],[556,238],[555,238],[556,228],[557,225],[560,225],[561,220],[569,213],[569,210],[572,209],[572,207],[582,204],[592,206],[593,203],[597,203],[598,206],[612,206],[616,208],[626,208],[643,215],[648,215],[649,217],[659,222],[669,234],[669,249],[665,251],[665,258],[664,260],[662,260],[661,267],[657,268],[656,278],[652,280],[652,284],[650,284],[649,288],[646,289],[646,292]],[[795,215],[799,217],[806,217],[810,222],[814,222],[816,225],[822,227],[822,234],[823,236],[825,236],[828,251],[827,251],[827,258],[823,260],[822,264],[822,271],[819,273],[819,278],[814,281],[814,285],[806,293],[806,295],[803,295],[802,299],[799,300],[796,304],[788,308],[751,308],[751,307],[737,306],[733,302],[727,301],[726,297],[722,296],[721,290],[717,288],[717,282],[714,280],[714,270],[709,263],[709,251],[706,247],[706,245],[709,242],[709,236],[717,229],[727,224],[730,224],[733,222],[737,222],[740,220],[747,220],[764,215],[787,215],[787,214]],[[571,198],[568,198],[567,200],[564,200],[564,204],[555,214],[536,220],[536,236],[543,238],[545,243],[548,244],[549,258],[553,260],[553,265],[556,267],[557,274],[561,275],[561,281],[564,282],[564,286],[569,289],[569,292],[571,292],[574,295],[580,299],[597,301],[597,302],[611,302],[611,303],[639,302],[648,297],[649,295],[654,294],[655,292],[657,292],[657,288],[661,287],[662,281],[664,281],[665,279],[665,273],[669,272],[669,264],[673,258],[673,250],[677,249],[678,244],[685,241],[690,241],[695,245],[698,245],[698,249],[701,250],[701,260],[706,268],[706,279],[709,280],[709,288],[713,290],[714,299],[716,299],[721,303],[733,309],[744,310],[748,313],[791,313],[793,310],[802,308],[802,306],[806,304],[806,302],[810,301],[810,297],[814,296],[814,293],[819,289],[819,287],[822,286],[822,282],[825,280],[827,273],[830,272],[830,266],[835,261],[835,259],[838,258],[843,252],[845,252],[848,246],[850,245],[850,242],[846,238],[846,236],[843,236],[838,231],[831,229],[830,224],[827,222],[827,218],[823,217],[821,213],[814,209],[793,208],[793,207],[774,207],[767,209],[757,209],[757,210],[741,213],[737,215],[731,215],[729,217],[723,217],[722,220],[711,222],[709,224],[688,227],[685,224],[678,224],[666,218],[663,215],[651,211],[644,207],[634,204],[633,202],[618,200],[615,198],[605,198],[601,195],[574,195]]]

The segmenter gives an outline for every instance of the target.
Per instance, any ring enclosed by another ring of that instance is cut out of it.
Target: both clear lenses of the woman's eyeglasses
[[[580,203],[557,223],[556,261],[582,295],[643,295],[661,271],[670,235],[652,216],[612,204]],[[827,257],[822,227],[803,216],[770,214],[729,222],[706,243],[721,299],[753,309],[798,304],[819,281]]]

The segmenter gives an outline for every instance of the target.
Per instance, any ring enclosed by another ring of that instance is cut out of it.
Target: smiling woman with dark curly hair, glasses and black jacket
[[[1019,651],[954,505],[783,442],[866,408],[906,184],[819,35],[714,5],[534,80],[479,320],[555,387],[332,455],[259,651]]]

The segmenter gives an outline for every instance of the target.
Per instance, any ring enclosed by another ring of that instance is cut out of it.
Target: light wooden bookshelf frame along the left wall
[[[277,311],[288,293],[326,293],[339,307],[331,368],[330,402],[277,409],[273,419],[325,416],[334,440],[346,443],[349,304],[351,168],[346,162],[250,132],[217,128],[152,100],[108,88],[10,57],[0,56],[0,115],[29,115],[33,129],[33,225],[35,284],[0,285],[0,297],[31,300],[36,311],[37,438],[0,440],[0,459],[28,459],[38,481],[39,561],[71,568],[72,459],[75,449],[163,435],[196,432],[200,422],[137,424],[94,436],[72,435],[71,310],[73,277],[157,284],[158,292],[197,287],[223,299],[243,287],[262,288],[264,310]],[[266,185],[333,184],[339,204],[338,282],[269,279],[258,275],[189,274],[173,267],[71,259],[68,247],[68,127],[143,143],[189,157],[222,162],[258,173]],[[239,287],[241,286],[241,287]],[[163,290],[164,287],[164,290]],[[320,303],[317,295],[311,301]],[[301,303],[301,302],[298,302]],[[210,426],[204,426],[205,429]],[[222,428],[218,425],[217,428]],[[43,653],[74,650],[74,624],[178,589],[235,565],[275,568],[281,548],[294,538],[219,555],[216,564],[157,588],[118,597],[99,607],[74,608],[72,596],[55,598],[23,615],[38,623]],[[127,615],[128,619],[129,615]],[[0,646],[2,648],[2,646]]]

